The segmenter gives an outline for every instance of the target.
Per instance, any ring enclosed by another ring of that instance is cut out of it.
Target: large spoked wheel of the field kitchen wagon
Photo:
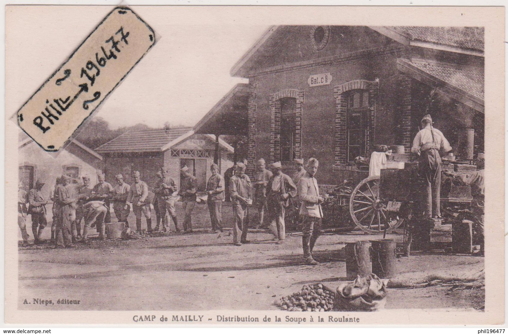
[[[355,224],[370,234],[381,234],[388,224],[387,232],[397,228],[404,218],[386,209],[388,201],[379,197],[379,176],[363,179],[353,190],[350,213]]]

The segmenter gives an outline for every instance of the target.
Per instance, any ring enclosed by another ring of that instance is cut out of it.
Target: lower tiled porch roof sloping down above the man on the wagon
[[[466,93],[484,100],[484,74],[478,69],[460,69],[451,65],[447,66],[446,64],[429,62],[411,62],[407,60],[405,62],[439,80],[462,89]]]

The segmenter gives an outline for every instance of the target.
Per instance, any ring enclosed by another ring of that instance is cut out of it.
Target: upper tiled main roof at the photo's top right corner
[[[484,51],[483,27],[392,27],[414,41],[448,45],[460,49]]]

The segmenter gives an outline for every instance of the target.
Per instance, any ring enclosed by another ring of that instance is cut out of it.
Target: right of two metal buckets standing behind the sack
[[[372,240],[372,274],[379,278],[392,278],[396,274],[395,248],[391,239]]]

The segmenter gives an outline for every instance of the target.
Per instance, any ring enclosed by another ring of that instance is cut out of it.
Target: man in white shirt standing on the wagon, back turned
[[[422,198],[422,211],[428,218],[441,218],[441,156],[439,152],[452,150],[448,140],[441,131],[432,127],[432,118],[422,118],[422,129],[413,141],[411,152],[419,156],[418,168],[424,182],[425,195]]]

